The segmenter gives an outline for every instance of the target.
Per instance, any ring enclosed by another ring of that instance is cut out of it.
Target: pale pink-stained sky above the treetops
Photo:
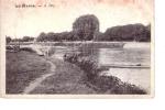
[[[42,7],[15,8],[23,3]],[[147,25],[153,21],[153,0],[1,0],[0,8],[1,35],[13,38],[72,31],[73,22],[84,14],[95,14],[101,32],[116,25]]]

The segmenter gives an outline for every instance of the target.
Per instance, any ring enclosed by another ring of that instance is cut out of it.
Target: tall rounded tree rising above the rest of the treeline
[[[99,20],[94,14],[81,15],[73,23],[73,31],[79,40],[90,41],[99,32]]]

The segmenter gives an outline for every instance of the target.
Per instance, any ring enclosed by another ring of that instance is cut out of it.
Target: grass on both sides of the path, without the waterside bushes
[[[82,76],[82,70],[61,59],[45,59],[25,51],[7,52],[7,94],[94,94]]]

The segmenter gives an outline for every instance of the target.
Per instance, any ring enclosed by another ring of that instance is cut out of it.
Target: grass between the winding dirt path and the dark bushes
[[[46,78],[37,88],[31,94],[96,94],[96,91],[88,87],[82,80],[84,72],[67,62],[50,58],[55,65],[55,74]]]

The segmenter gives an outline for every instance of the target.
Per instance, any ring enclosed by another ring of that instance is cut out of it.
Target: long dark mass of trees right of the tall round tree
[[[96,38],[96,41],[136,41],[148,42],[151,38],[150,25],[129,24],[121,26],[113,26]]]

